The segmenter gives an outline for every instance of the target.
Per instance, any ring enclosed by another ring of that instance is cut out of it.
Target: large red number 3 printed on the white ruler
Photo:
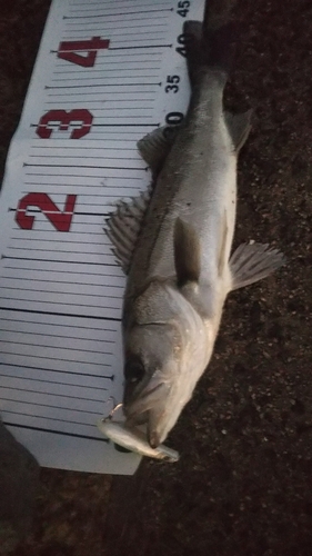
[[[93,116],[84,108],[70,110],[69,112],[66,110],[50,110],[42,116],[36,133],[41,139],[49,139],[53,131],[53,129],[49,128],[49,123],[57,122],[60,130],[67,130],[71,123],[77,125],[78,122],[80,128],[72,130],[70,139],[80,139],[89,133],[92,121]]]

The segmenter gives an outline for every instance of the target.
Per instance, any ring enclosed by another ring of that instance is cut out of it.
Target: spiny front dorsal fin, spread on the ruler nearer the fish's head
[[[151,188],[130,202],[120,201],[107,219],[104,231],[113,244],[113,252],[124,274],[129,272],[133,249],[151,198]]]

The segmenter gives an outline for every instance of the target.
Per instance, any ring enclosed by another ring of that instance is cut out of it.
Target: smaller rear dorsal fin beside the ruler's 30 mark
[[[157,128],[138,141],[139,152],[154,176],[160,171],[179,129],[180,126]]]

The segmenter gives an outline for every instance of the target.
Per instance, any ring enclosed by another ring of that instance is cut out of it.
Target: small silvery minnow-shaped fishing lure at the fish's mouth
[[[141,456],[162,459],[168,463],[179,460],[179,453],[160,444],[157,448],[152,448],[147,441],[147,435],[138,427],[128,429],[124,421],[115,421],[111,419],[100,419],[98,428],[110,440],[123,448],[134,451]]]

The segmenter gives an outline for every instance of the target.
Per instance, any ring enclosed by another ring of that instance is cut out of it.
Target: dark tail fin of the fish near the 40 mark
[[[185,21],[185,50],[191,83],[207,70],[219,70],[224,81],[233,60],[234,26],[230,21],[233,0],[210,0],[204,19]]]

